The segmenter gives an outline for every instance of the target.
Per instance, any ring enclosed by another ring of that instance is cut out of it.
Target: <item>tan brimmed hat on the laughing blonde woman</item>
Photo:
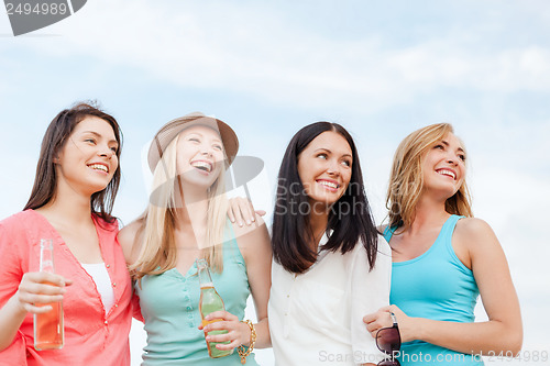
[[[169,121],[158,130],[151,147],[148,148],[148,167],[151,171],[155,171],[158,160],[163,156],[164,149],[182,131],[193,125],[206,125],[219,132],[223,148],[227,155],[227,166],[233,163],[239,151],[239,140],[234,131],[223,121],[207,117],[200,112],[193,112],[184,117]]]

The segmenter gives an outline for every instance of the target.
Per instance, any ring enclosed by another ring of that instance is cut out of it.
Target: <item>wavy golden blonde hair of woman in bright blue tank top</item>
[[[448,133],[454,133],[451,124],[431,124],[409,134],[397,147],[386,196],[391,228],[408,228],[415,220],[415,208],[424,188],[422,157]],[[457,193],[447,199],[446,211],[473,217],[465,180]]]

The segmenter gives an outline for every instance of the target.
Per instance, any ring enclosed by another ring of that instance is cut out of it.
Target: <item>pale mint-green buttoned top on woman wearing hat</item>
[[[223,271],[210,273],[226,310],[242,320],[250,286],[244,258],[231,226],[230,233],[231,239],[222,244]],[[205,333],[197,328],[201,322],[200,285],[195,263],[185,276],[172,268],[161,275],[144,276],[141,288],[139,285],[135,288],[147,332],[143,366],[241,366],[237,350],[221,358],[208,356]],[[257,366],[253,354],[246,357],[246,365]]]

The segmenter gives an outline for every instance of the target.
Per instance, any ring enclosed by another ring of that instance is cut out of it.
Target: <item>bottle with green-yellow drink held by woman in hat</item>
[[[200,282],[199,311],[200,311],[200,318],[202,319],[202,326],[206,326],[207,324],[221,321],[221,319],[213,319],[208,321],[205,320],[205,318],[211,312],[226,310],[226,307],[223,306],[223,300],[221,299],[220,295],[218,293],[218,291],[216,291],[216,288],[213,287],[212,278],[210,277],[210,270],[208,269],[208,263],[205,259],[197,259],[197,268]],[[226,333],[228,333],[228,331],[226,330],[211,331],[208,332],[208,335],[226,334]],[[229,343],[230,342],[228,341],[228,342],[221,342],[220,344],[229,344]],[[233,350],[222,351],[216,348],[217,344],[219,344],[219,342],[207,341],[208,355],[211,358],[229,356],[230,354],[233,353]]]

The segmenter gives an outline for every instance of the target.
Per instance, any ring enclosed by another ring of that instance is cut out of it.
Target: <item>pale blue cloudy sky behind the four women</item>
[[[147,201],[143,151],[189,112],[226,121],[240,155],[264,162],[249,189],[267,219],[292,136],[320,120],[344,125],[378,223],[398,143],[450,122],[469,154],[474,214],[509,262],[522,353],[550,352],[549,34],[546,0],[89,0],[16,37],[0,13],[0,219],[26,202],[47,124],[80,100],[97,100],[122,127],[114,214],[124,223]],[[476,314],[485,319],[481,303]],[[143,342],[134,323],[133,365]],[[273,364],[271,351],[258,359]]]

